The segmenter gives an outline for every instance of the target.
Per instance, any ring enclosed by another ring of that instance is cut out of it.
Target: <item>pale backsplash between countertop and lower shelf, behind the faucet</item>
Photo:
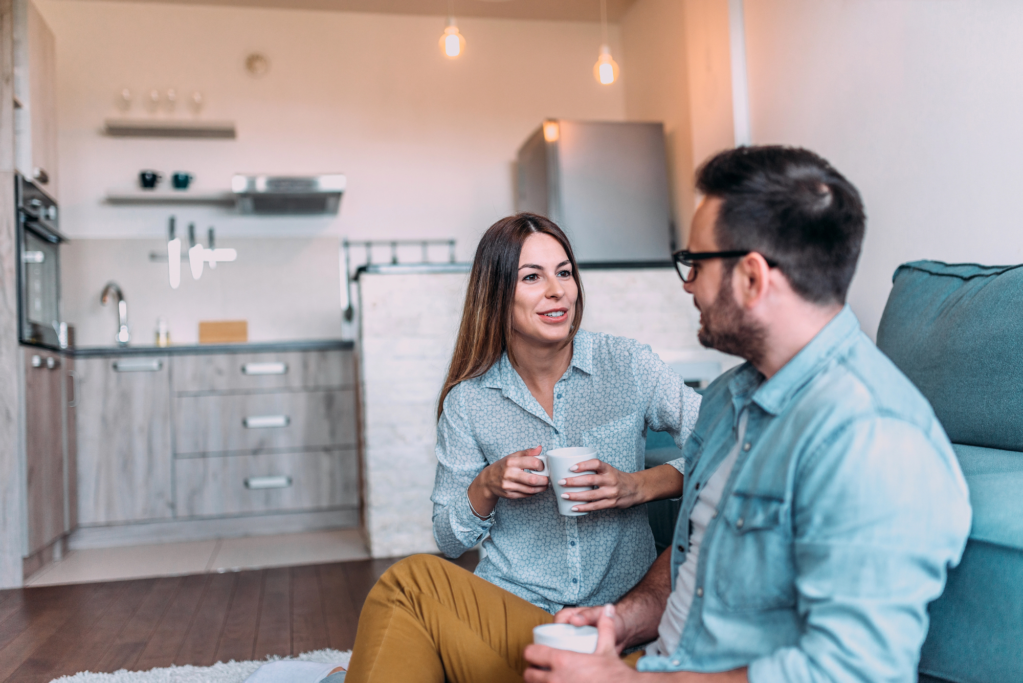
[[[198,342],[201,320],[248,320],[250,342],[342,336],[341,268],[337,237],[235,238],[234,263],[209,266],[193,280],[181,264],[181,286],[171,289],[160,239],[76,239],[63,246],[62,271],[74,283],[62,292],[64,320],[80,347],[109,346],[117,308],[99,303],[107,281],[128,302],[133,345],[153,344],[157,317],[167,318],[175,344]]]

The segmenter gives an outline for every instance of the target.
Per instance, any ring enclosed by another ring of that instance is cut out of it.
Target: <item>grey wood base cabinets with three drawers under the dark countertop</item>
[[[78,356],[72,547],[355,523],[355,358],[322,346]]]

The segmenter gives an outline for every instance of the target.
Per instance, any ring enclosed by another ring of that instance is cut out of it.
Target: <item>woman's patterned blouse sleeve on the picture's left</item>
[[[448,394],[437,423],[437,476],[430,497],[434,539],[448,557],[458,557],[475,546],[493,525],[492,518],[473,514],[469,504],[469,485],[488,463],[459,410],[457,389]]]

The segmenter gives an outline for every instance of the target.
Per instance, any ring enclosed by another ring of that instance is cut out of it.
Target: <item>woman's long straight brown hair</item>
[[[476,247],[461,326],[448,376],[441,390],[437,419],[444,412],[444,399],[458,382],[482,375],[500,360],[505,351],[510,355],[508,339],[511,336],[515,287],[519,281],[519,257],[526,239],[537,233],[557,239],[572,264],[572,278],[576,281],[579,297],[566,344],[571,344],[579,331],[582,322],[582,281],[569,238],[553,221],[536,214],[516,214],[497,221],[487,229]]]

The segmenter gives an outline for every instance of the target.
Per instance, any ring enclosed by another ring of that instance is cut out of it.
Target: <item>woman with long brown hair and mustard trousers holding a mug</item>
[[[552,222],[519,214],[483,235],[441,392],[432,498],[441,550],[456,557],[487,537],[487,556],[478,576],[433,555],[392,565],[362,607],[351,671],[327,665],[308,683],[522,681],[534,626],[565,605],[615,602],[646,574],[654,539],[639,504],[680,496],[682,463],[643,470],[644,434],[681,446],[700,397],[649,347],[581,330],[582,304]],[[559,514],[547,479],[527,471],[566,446],[599,456],[577,466],[595,474],[565,481],[599,487],[570,494],[585,516]],[[252,683],[285,681],[270,673]]]

